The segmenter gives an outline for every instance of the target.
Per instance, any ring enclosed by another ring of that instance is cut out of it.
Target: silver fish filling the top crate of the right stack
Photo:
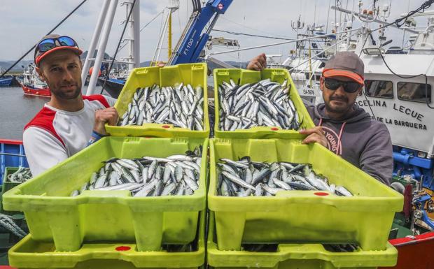
[[[218,86],[219,128],[222,131],[253,126],[300,129],[302,120],[290,100],[290,87],[287,80],[280,84],[269,78],[244,85],[237,85],[233,80],[223,82]]]

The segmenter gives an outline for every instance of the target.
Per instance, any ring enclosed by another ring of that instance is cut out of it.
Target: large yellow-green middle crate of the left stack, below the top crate
[[[132,197],[130,191],[83,191],[90,175],[111,157],[167,157],[203,145],[199,189],[190,196]],[[5,210],[25,213],[31,238],[76,251],[83,242],[136,242],[139,251],[195,239],[206,208],[208,138],[107,137],[29,182],[3,194]]]

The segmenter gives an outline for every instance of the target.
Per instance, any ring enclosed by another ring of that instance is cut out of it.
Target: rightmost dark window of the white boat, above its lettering
[[[426,103],[431,103],[431,85],[425,83],[398,82],[398,99]]]

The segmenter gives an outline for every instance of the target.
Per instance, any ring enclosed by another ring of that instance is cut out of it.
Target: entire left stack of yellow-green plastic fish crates
[[[123,115],[138,87],[183,83],[203,89],[207,65],[134,69],[115,108]],[[3,196],[6,210],[25,213],[30,235],[10,249],[15,268],[199,268],[204,266],[209,122],[190,131],[170,124],[107,126],[111,136]],[[111,158],[168,157],[202,146],[199,189],[186,196],[132,197],[130,191],[80,189]],[[168,252],[163,245],[188,246]]]

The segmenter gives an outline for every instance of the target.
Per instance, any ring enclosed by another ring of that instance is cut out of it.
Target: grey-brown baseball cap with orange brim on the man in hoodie
[[[342,76],[363,85],[365,64],[354,52],[337,52],[323,68],[324,78]]]

